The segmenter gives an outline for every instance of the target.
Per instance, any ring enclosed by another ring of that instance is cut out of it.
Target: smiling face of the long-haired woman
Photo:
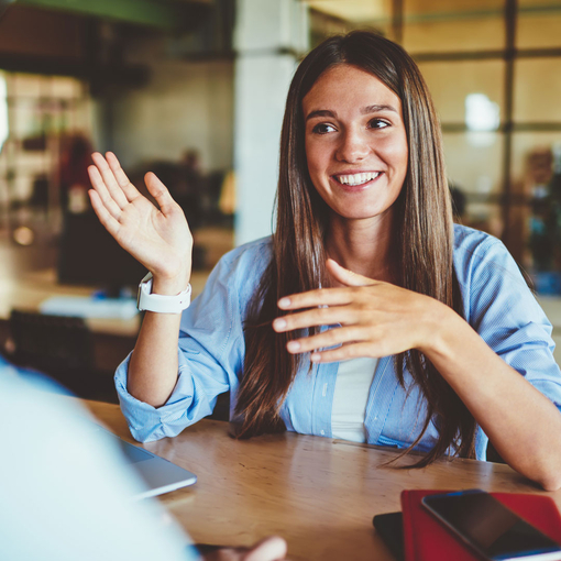
[[[314,186],[346,219],[388,215],[407,174],[399,98],[372,74],[340,64],[302,100]]]

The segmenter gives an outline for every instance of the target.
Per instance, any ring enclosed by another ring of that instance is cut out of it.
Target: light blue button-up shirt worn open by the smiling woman
[[[486,233],[454,226],[454,267],[464,317],[513,369],[561,409],[561,372],[553,359],[551,323],[528,289],[504,244]],[[127,359],[117,370],[121,408],[136,440],[174,437],[212,413],[217,396],[231,391],[230,418],[245,354],[243,321],[248,304],[272,257],[271,239],[242,245],[224,255],[204,293],[182,318],[179,376],[167,403],[154,408],[127,392]],[[289,266],[289,264],[287,265]],[[420,432],[426,403],[409,373],[397,382],[393,356],[378,361],[366,406],[367,442],[404,448]],[[331,407],[339,363],[297,373],[280,416],[288,430],[331,437]],[[411,387],[413,386],[413,387]],[[497,396],[497,399],[501,397]],[[438,437],[430,425],[418,450]],[[477,430],[476,457],[486,458],[488,439]]]

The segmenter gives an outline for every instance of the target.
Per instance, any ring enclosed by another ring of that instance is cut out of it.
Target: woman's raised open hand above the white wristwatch
[[[191,271],[193,235],[185,215],[165,185],[153,174],[144,180],[160,209],[127,177],[117,156],[91,155],[88,173],[91,205],[108,232],[153,275],[154,283],[182,292]]]

